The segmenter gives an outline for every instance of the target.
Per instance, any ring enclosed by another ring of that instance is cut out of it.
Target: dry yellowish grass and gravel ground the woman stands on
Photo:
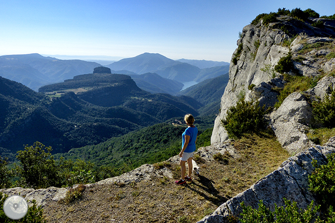
[[[186,185],[174,183],[180,178],[180,166],[171,164],[166,167],[173,170],[175,179],[95,184],[84,190],[79,200],[69,205],[49,204],[44,213],[48,222],[196,222],[289,157],[276,139],[266,134],[247,135],[233,144],[240,158],[224,154],[222,159],[205,162],[198,157],[201,176]]]

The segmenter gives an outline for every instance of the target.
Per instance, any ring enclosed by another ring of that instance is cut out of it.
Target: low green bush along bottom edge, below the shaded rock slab
[[[241,223],[254,223],[254,222],[291,222],[291,223],[302,223],[302,222],[314,222],[313,220],[318,219],[317,210],[319,206],[314,206],[313,201],[308,205],[306,209],[298,208],[295,201],[284,198],[285,206],[278,207],[275,204],[275,211],[271,211],[266,207],[262,200],[259,202],[258,209],[254,209],[251,206],[245,206],[241,203],[243,212],[241,213]],[[319,219],[318,219],[319,220]],[[320,222],[320,221],[319,221]]]

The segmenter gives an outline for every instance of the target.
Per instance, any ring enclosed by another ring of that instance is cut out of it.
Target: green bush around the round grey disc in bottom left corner
[[[0,192],[0,206],[4,206],[4,202],[8,195]],[[18,220],[10,219],[6,216],[4,209],[0,208],[0,222],[4,223],[45,223],[46,220],[43,218],[43,209],[41,206],[36,205],[36,200],[32,201],[33,205],[28,208],[27,214]]]

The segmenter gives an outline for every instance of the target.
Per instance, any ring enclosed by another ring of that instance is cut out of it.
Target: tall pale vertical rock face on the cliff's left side
[[[237,45],[242,44],[243,50],[236,65],[230,62],[229,82],[221,98],[221,110],[215,120],[211,143],[224,142],[228,134],[220,126],[230,106],[234,106],[241,95],[246,100],[260,99],[260,104],[273,106],[277,93],[271,91],[274,86],[283,86],[283,82],[276,77],[274,66],[281,57],[289,52],[288,47],[279,45],[288,36],[281,30],[273,29],[268,32],[260,26],[248,25],[243,28],[242,37]],[[259,47],[257,48],[257,43]],[[237,54],[235,50],[232,59]],[[255,85],[249,90],[249,85]]]

